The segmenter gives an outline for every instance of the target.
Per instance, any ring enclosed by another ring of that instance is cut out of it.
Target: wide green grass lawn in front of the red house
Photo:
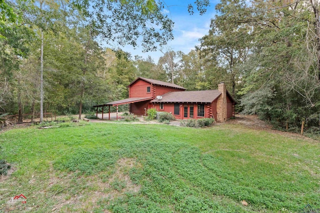
[[[236,124],[29,127],[1,133],[0,146],[15,169],[0,180],[0,211],[320,208],[320,143]],[[21,193],[26,203],[9,201]]]

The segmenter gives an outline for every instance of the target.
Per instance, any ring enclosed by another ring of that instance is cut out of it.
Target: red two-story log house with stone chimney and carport
[[[215,90],[186,91],[182,86],[160,80],[138,77],[129,85],[129,98],[95,105],[118,106],[129,104],[129,112],[145,115],[149,108],[158,112],[169,112],[176,119],[214,117],[216,121],[224,122],[234,116],[235,101],[226,90],[224,82],[218,84]]]

